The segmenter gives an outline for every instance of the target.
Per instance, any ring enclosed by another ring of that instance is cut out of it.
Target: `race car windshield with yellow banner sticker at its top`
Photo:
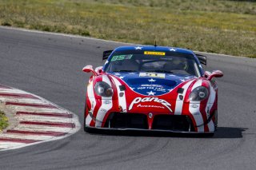
[[[190,53],[127,50],[109,59],[106,72],[159,72],[200,77],[198,64]]]

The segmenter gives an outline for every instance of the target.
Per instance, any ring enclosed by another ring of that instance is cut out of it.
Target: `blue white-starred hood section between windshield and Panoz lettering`
[[[169,93],[184,81],[195,78],[172,73],[110,73],[119,77],[134,92],[146,96],[159,96]]]

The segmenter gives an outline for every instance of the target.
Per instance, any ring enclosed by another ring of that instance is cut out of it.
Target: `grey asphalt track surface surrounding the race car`
[[[89,74],[122,43],[0,28],[0,83],[35,93],[82,122]],[[218,131],[212,138],[88,134],[0,152],[0,169],[255,169],[256,60],[208,54],[220,69]]]

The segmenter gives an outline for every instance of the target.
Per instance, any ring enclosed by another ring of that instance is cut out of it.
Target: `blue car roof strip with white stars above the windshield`
[[[115,51],[122,51],[122,50],[154,50],[154,51],[173,51],[179,53],[190,53],[193,54],[193,51],[189,49],[181,49],[176,47],[168,47],[168,46],[154,46],[154,45],[129,45],[129,46],[120,46],[115,49]]]

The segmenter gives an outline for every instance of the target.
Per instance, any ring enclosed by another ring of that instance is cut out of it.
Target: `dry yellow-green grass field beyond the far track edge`
[[[256,2],[0,0],[0,24],[256,57]]]

